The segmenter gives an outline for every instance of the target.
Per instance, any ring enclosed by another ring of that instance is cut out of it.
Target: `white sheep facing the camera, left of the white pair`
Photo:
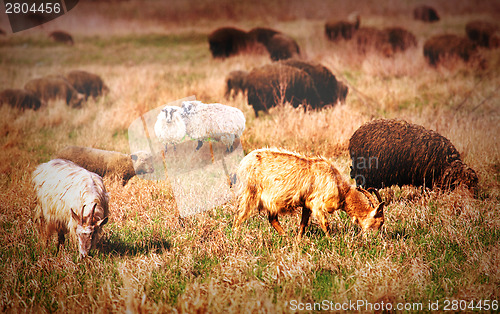
[[[167,145],[175,144],[182,141],[186,136],[186,124],[181,116],[181,108],[177,106],[165,106],[156,118],[155,134],[160,142],[165,145],[165,152]]]

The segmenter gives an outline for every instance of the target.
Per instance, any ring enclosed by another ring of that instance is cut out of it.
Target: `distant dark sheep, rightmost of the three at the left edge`
[[[66,79],[79,93],[85,95],[85,100],[89,97],[96,99],[109,92],[109,88],[97,74],[75,70],[66,74]]]

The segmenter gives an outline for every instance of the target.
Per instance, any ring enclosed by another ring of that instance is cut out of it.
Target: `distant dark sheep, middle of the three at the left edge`
[[[80,107],[85,98],[64,77],[58,75],[33,79],[28,81],[24,88],[45,102],[63,99],[68,106],[74,108]]]

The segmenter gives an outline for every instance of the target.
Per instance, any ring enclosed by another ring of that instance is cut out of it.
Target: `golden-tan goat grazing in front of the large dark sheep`
[[[258,149],[241,160],[237,178],[239,214],[234,222],[236,229],[257,209],[267,213],[269,223],[284,235],[278,215],[292,213],[299,207],[302,207],[299,238],[311,214],[329,235],[326,213],[338,209],[346,211],[364,231],[378,230],[384,223],[384,202],[377,201],[366,190],[350,186],[323,157]]]

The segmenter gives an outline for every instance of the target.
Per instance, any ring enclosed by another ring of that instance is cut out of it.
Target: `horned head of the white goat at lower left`
[[[71,217],[78,223],[76,226],[76,237],[78,238],[78,250],[80,257],[85,257],[92,248],[95,231],[108,222],[108,217],[101,220],[94,221],[94,213],[97,203],[92,207],[92,212],[84,216],[85,205],[82,206],[81,215],[78,216],[73,209],[71,209]]]

